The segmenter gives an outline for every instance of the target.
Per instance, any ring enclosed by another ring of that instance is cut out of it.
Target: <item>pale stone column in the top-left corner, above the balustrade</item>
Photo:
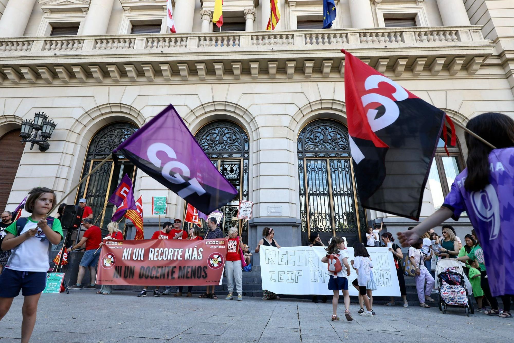
[[[21,37],[27,28],[35,0],[11,0],[0,19],[0,37]]]

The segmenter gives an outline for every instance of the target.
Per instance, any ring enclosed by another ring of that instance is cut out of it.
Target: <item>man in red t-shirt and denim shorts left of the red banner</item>
[[[68,248],[69,251],[73,251],[77,248],[82,247],[82,245],[86,245],[86,251],[84,252],[84,256],[82,256],[82,260],[80,260],[79,265],[79,274],[77,275],[77,284],[72,285],[68,288],[82,288],[82,278],[86,274],[86,268],[89,268],[89,285],[84,286],[84,288],[96,288],[95,280],[96,280],[96,266],[98,265],[98,259],[100,258],[100,243],[102,242],[102,230],[91,223],[90,219],[82,220],[84,227],[86,228],[86,232],[84,232],[84,236],[74,247]]]

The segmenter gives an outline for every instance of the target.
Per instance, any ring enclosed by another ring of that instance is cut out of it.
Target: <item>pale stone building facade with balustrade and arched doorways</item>
[[[321,0],[279,0],[275,31],[263,30],[269,0],[224,0],[221,31],[211,22],[213,0],[173,5],[177,33],[167,33],[163,0],[0,0],[3,154],[34,112],[57,122],[47,151],[27,145],[10,157],[19,168],[6,177],[0,206],[13,209],[34,186],[64,195],[172,103],[240,190],[223,209],[225,227],[243,226],[252,247],[264,226],[276,228],[283,246],[305,243],[310,231],[358,240],[382,220],[389,231],[405,229],[413,222],[360,207],[341,48],[454,121],[489,111],[514,116],[509,0],[336,0],[336,20],[325,30]],[[464,168],[464,136],[456,133],[451,156],[436,154],[423,216]],[[159,220],[152,196],[167,196],[168,217],[183,218],[181,198],[123,159],[104,165],[66,203],[86,197],[105,227],[113,208],[102,209],[124,173],[143,196],[145,237]],[[254,203],[249,222],[235,217],[239,199]],[[465,219],[457,225],[469,231]]]

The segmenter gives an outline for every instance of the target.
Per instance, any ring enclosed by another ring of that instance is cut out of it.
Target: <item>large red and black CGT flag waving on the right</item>
[[[445,113],[341,51],[346,55],[346,117],[362,206],[419,220]]]

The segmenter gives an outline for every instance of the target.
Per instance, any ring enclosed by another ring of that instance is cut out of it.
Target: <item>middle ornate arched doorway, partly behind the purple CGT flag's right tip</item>
[[[195,135],[200,147],[219,172],[237,189],[237,195],[226,206],[220,227],[227,233],[232,226],[242,228],[244,242],[248,242],[248,221],[237,219],[239,201],[248,200],[249,140],[246,132],[230,121],[215,121],[205,125]],[[205,232],[207,225],[201,227]]]

